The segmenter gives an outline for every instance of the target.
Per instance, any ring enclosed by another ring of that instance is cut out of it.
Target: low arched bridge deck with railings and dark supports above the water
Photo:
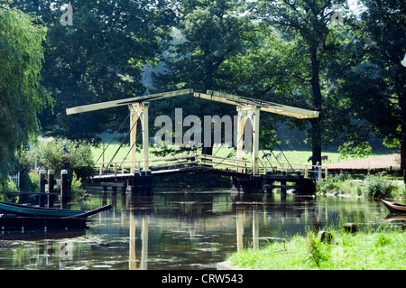
[[[307,178],[309,171],[305,174],[298,172],[297,170],[291,169],[291,171],[278,171],[276,167],[272,167],[272,170],[265,170],[267,167],[262,167],[263,173],[258,175],[253,175],[250,167],[245,165],[231,164],[229,166],[218,165],[216,162],[216,157],[204,155],[193,155],[187,156],[188,161],[179,161],[176,159],[176,163],[165,162],[162,168],[158,165],[153,168],[156,170],[152,171],[140,171],[135,170],[134,173],[130,173],[130,169],[125,167],[114,167],[101,170],[100,173],[91,179],[91,182],[98,183],[98,185],[103,187],[121,187],[125,190],[130,187],[132,190],[152,190],[152,178],[160,176],[168,176],[182,173],[189,174],[201,174],[201,173],[211,173],[223,176],[229,176],[231,178],[232,190],[251,190],[251,189],[263,189],[263,182],[266,181],[266,189],[280,188],[281,190],[295,189],[301,191],[299,193],[309,193],[307,191],[311,190],[311,183],[313,180]],[[211,161],[207,159],[210,158]],[[219,157],[220,158],[220,157]],[[171,157],[173,159],[173,157]],[[198,161],[196,161],[198,159]],[[200,161],[199,161],[200,160]],[[235,162],[235,159],[220,159],[221,163],[225,161]],[[244,161],[243,161],[244,162]],[[248,162],[245,162],[245,164]],[[168,168],[171,167],[171,168]],[[161,169],[160,169],[161,168]],[[117,172],[117,171],[128,171],[128,172]],[[103,173],[105,172],[105,173]],[[107,172],[107,173],[106,173]],[[275,185],[274,182],[280,182],[280,185]],[[287,185],[288,182],[294,182],[294,185]]]

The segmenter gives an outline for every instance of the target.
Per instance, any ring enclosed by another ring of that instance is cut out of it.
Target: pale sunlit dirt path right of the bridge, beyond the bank
[[[352,168],[352,169],[387,168],[391,166],[399,167],[400,165],[401,165],[401,154],[390,154],[337,163],[323,163],[323,166],[327,166],[328,168]]]

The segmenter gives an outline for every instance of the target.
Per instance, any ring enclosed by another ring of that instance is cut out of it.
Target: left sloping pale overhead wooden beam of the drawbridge
[[[130,104],[134,104],[134,103],[141,103],[141,102],[145,102],[145,101],[153,101],[153,100],[171,98],[171,97],[188,95],[188,94],[193,94],[193,89],[184,89],[184,90],[178,90],[178,91],[172,91],[172,92],[158,93],[158,94],[145,95],[145,96],[134,97],[134,98],[126,98],[126,99],[120,99],[120,100],[115,100],[115,101],[108,101],[108,102],[101,102],[101,103],[97,103],[97,104],[89,104],[89,105],[84,105],[84,106],[72,107],[72,108],[66,109],[66,114],[72,115],[72,114],[78,114],[78,113],[85,113],[85,112],[90,112],[90,111],[96,111],[96,110],[107,109],[107,108],[112,108],[112,107],[121,107],[121,106],[130,105]]]

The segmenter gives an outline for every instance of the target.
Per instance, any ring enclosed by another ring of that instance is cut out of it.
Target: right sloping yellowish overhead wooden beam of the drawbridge
[[[254,98],[245,98],[232,94],[221,93],[217,91],[208,90],[207,93],[194,93],[195,98],[202,98],[211,101],[217,101],[220,103],[226,103],[235,105],[238,107],[244,107],[247,105],[259,105],[261,111],[280,114],[284,116],[291,116],[300,119],[317,118],[318,111],[312,111],[308,109],[302,109],[298,107],[291,107],[288,105],[281,105],[274,102],[264,101]]]

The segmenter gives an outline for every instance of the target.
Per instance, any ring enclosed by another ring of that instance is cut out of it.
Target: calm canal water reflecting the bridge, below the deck
[[[128,196],[93,191],[71,209],[113,209],[88,218],[88,230],[0,235],[0,269],[202,270],[226,256],[263,246],[267,237],[305,235],[309,228],[386,225],[380,201],[229,190],[155,191]]]

